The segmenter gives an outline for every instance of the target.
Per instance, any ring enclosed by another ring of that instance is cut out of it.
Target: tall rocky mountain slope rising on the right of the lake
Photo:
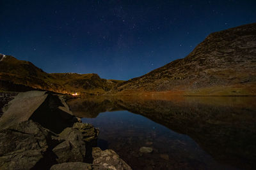
[[[115,95],[256,95],[256,24],[209,34],[184,59],[118,84]]]

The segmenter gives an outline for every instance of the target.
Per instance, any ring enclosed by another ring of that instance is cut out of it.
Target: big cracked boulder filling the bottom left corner
[[[0,131],[0,169],[51,167],[56,134],[28,120]]]

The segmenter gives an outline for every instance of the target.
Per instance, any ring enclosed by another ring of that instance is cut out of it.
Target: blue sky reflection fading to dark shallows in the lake
[[[100,113],[83,122],[99,127],[99,146],[115,150],[134,169],[212,169],[220,164],[193,139],[129,111]],[[141,146],[154,148],[140,153]],[[227,167],[225,167],[227,168]]]

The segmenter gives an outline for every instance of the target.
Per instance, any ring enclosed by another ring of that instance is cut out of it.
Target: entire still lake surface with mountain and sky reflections
[[[84,98],[68,102],[99,127],[98,145],[132,169],[255,169],[255,97]],[[142,146],[153,149],[140,152]]]

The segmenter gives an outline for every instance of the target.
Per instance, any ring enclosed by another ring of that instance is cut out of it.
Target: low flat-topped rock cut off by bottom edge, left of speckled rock
[[[92,169],[92,164],[86,164],[84,162],[68,162],[62,164],[55,164],[51,167],[51,170],[89,170]]]

